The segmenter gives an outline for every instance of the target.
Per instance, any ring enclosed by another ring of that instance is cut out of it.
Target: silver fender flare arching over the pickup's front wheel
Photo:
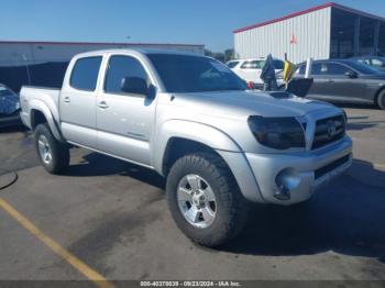
[[[174,137],[191,140],[205,144],[213,149],[241,152],[241,147],[223,131],[208,124],[186,121],[168,120],[160,126],[153,143],[153,166],[163,175],[163,160],[169,141]]]

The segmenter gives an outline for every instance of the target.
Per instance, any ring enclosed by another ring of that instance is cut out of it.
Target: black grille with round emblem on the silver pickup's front
[[[316,132],[312,141],[312,149],[322,147],[345,135],[345,118],[343,115],[337,115],[318,120],[316,122]]]

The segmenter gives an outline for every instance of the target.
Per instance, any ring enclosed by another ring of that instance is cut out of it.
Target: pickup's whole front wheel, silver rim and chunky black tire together
[[[167,200],[182,232],[204,246],[218,246],[244,226],[249,202],[226,163],[197,153],[179,158],[167,177]]]

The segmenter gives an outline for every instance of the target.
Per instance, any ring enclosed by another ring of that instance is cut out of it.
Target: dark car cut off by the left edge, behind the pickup
[[[0,128],[20,125],[19,96],[0,84]]]

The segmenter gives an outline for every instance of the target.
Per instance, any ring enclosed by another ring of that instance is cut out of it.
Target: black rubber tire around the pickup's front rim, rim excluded
[[[216,217],[207,228],[190,224],[178,207],[178,184],[189,174],[202,177],[216,197]],[[200,245],[213,247],[229,242],[243,229],[248,220],[250,202],[242,196],[227,164],[217,155],[196,153],[179,158],[167,176],[166,192],[169,210],[177,226]]]

